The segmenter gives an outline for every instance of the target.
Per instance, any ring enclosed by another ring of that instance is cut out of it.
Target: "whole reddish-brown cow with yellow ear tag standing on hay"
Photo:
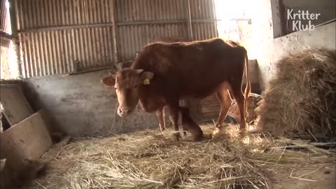
[[[245,95],[241,91],[244,66]],[[102,83],[116,88],[119,116],[132,113],[140,101],[144,111],[156,112],[160,125],[164,127],[162,110],[167,106],[169,119],[176,131],[179,131],[179,99],[202,99],[216,92],[221,103],[221,112],[216,121],[216,127],[219,128],[232,102],[232,92],[239,107],[240,128],[246,129],[245,99],[251,90],[248,57],[246,49],[234,41],[213,38],[193,42],[152,43],[144,47],[130,68],[117,71],[115,77],[106,76]],[[188,122],[190,119],[185,120]],[[195,127],[186,127],[189,130],[192,128]],[[179,133],[174,134],[174,137],[178,141]]]

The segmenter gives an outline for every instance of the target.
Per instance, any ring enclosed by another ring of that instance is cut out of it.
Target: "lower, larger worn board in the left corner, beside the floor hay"
[[[20,170],[25,159],[40,158],[52,145],[47,125],[38,111],[0,133],[0,158],[11,169]]]

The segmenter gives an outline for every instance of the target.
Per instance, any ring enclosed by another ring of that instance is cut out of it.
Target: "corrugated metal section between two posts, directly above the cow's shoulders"
[[[188,40],[186,1],[119,0],[118,57],[132,59],[147,43],[162,38]]]

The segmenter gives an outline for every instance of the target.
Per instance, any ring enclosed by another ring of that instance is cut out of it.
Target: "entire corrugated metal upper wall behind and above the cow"
[[[25,78],[109,67],[191,35],[188,0],[17,0],[16,10]],[[214,0],[190,0],[190,15],[193,40],[218,36]]]

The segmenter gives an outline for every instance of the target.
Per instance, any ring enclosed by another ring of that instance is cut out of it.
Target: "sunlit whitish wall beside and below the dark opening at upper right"
[[[297,31],[286,36],[275,38],[273,27],[278,25],[276,19],[279,15],[272,15],[272,11],[277,10],[277,0],[256,0],[258,8],[252,18],[253,36],[255,38],[255,48],[258,48],[257,60],[259,66],[260,85],[262,90],[267,87],[268,81],[274,76],[275,64],[281,57],[289,55],[290,52],[299,52],[305,48],[326,48],[335,50],[335,22],[316,27],[314,31]],[[272,4],[272,6],[271,6]],[[302,2],[304,5],[304,2]],[[275,18],[275,19],[274,19]],[[274,21],[275,20],[275,21]]]

